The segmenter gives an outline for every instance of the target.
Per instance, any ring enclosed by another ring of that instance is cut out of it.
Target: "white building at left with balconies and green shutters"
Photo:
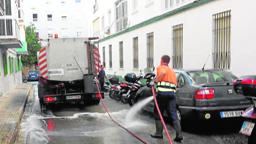
[[[0,98],[21,85],[21,56],[27,56],[23,0],[5,0],[0,14]],[[0,6],[1,9],[1,6]]]

